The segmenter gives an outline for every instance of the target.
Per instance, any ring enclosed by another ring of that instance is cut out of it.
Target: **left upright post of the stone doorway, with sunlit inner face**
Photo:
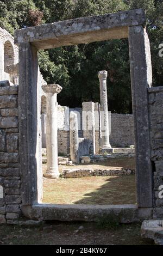
[[[29,205],[42,200],[42,162],[41,81],[36,49],[28,43],[19,46],[19,73],[21,196],[22,203]]]

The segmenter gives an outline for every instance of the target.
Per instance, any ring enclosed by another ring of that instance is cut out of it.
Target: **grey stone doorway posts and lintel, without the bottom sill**
[[[120,38],[129,38],[135,127],[137,206],[138,208],[152,208],[153,181],[147,95],[147,88],[152,86],[152,66],[146,33],[146,15],[142,9],[60,21],[15,32],[15,43],[19,46],[18,101],[23,206],[43,205],[41,204],[42,173],[40,172],[41,124],[39,115],[41,97],[37,51]],[[131,205],[131,208],[137,206]],[[56,208],[55,205],[51,207],[55,210],[59,205]],[[64,209],[67,208],[65,206]]]

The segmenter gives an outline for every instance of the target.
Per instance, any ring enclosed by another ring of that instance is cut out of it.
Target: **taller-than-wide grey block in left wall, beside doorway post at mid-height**
[[[7,152],[18,152],[18,133],[7,135]]]

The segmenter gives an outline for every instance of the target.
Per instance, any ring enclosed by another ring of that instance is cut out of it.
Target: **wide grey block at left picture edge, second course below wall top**
[[[0,108],[15,108],[17,107],[17,95],[0,96]]]

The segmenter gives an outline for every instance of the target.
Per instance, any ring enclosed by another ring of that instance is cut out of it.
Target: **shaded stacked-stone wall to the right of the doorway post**
[[[163,218],[163,199],[159,196],[159,188],[163,186],[163,87],[148,89],[148,104],[154,174],[154,218]]]

